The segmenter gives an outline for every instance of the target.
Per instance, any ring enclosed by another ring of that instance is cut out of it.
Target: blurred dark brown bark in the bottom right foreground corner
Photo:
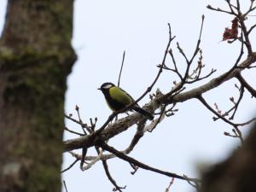
[[[255,179],[256,125],[241,148],[204,175],[201,192],[255,192]]]

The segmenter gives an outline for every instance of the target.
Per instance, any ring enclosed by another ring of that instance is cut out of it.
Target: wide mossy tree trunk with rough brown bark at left
[[[0,191],[61,191],[73,0],[9,0],[0,39]]]

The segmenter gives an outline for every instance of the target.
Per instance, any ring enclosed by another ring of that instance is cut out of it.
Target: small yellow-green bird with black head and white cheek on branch
[[[102,90],[106,102],[108,103],[108,107],[113,112],[117,112],[131,104],[131,102],[134,102],[134,99],[128,93],[126,93],[125,90],[122,90],[112,83],[104,83],[98,90]],[[154,119],[153,114],[148,113],[143,108],[140,108],[137,103],[131,107],[131,110],[142,113],[147,119]]]

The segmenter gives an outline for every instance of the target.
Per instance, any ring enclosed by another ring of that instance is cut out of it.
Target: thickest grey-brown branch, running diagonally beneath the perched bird
[[[248,57],[245,61],[241,62],[241,64],[238,66],[239,68],[235,68],[231,73],[228,73],[228,75],[227,73],[224,73],[218,76],[218,78],[212,79],[207,84],[203,84],[193,90],[177,94],[174,97],[169,96],[165,100],[161,100],[161,98],[164,98],[164,96],[154,98],[151,102],[148,103],[145,109],[147,110],[148,108],[150,108],[154,111],[160,107],[160,103],[171,104],[173,102],[185,102],[189,99],[196,98],[197,96],[200,96],[201,94],[212,90],[215,87],[218,87],[225,81],[236,77],[238,73],[241,73],[244,68],[250,66],[255,61],[256,53],[253,53],[253,57]],[[67,140],[64,142],[64,151],[70,151],[82,147],[90,148],[96,144],[96,141],[98,139],[101,139],[102,141],[107,141],[108,139],[118,135],[120,132],[127,130],[132,125],[135,125],[140,119],[143,119],[142,115],[140,115],[139,113],[133,113],[124,119],[119,119],[112,125],[108,125],[108,127],[105,128],[105,130],[102,131],[102,133],[98,136],[96,136],[95,133],[92,133],[84,137]]]

